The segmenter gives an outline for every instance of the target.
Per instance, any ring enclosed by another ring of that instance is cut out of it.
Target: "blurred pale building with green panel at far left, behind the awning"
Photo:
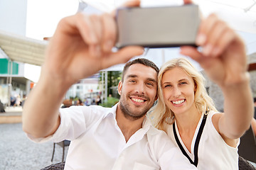
[[[0,0],[0,31],[26,35],[27,0]],[[1,42],[4,38],[1,38]],[[12,45],[12,44],[11,44]],[[25,65],[10,60],[0,43],[0,99],[8,103],[11,96],[27,94],[31,80],[25,77]],[[13,45],[14,46],[14,45]],[[28,88],[27,88],[28,87]]]

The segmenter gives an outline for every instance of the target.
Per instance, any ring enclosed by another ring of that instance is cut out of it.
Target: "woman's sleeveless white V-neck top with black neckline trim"
[[[230,147],[225,143],[223,138],[217,132],[217,130],[213,126],[212,117],[215,113],[210,111],[208,113],[208,117],[206,120],[206,125],[203,128],[203,133],[201,135],[201,140],[198,145],[198,166],[199,170],[235,170],[238,169],[238,142],[237,147]],[[198,134],[198,130],[200,128],[201,122],[203,120],[203,114],[201,115],[201,119],[197,125],[196,132],[193,136],[193,140],[191,143],[191,153],[188,152],[185,145],[181,140],[181,136],[179,135],[177,123],[175,123],[176,133],[178,135],[178,139],[181,142],[181,145],[185,149],[186,153],[191,160],[194,161],[194,153],[193,147],[196,142],[196,136]],[[168,125],[167,135],[171,137],[171,140],[178,147],[176,140],[174,138],[173,125]]]

